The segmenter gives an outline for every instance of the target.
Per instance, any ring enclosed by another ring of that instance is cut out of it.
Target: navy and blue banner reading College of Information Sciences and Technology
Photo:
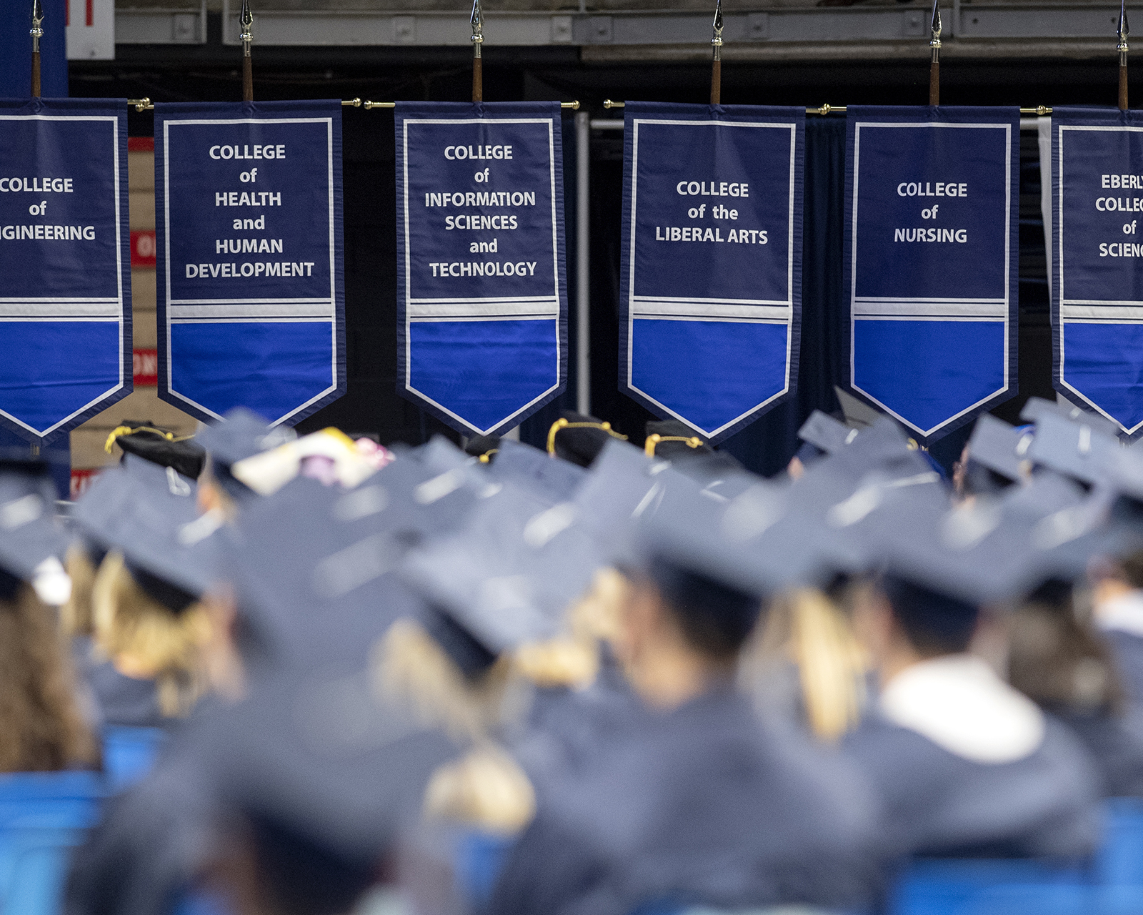
[[[558,102],[397,112],[397,391],[496,435],[567,387]]]

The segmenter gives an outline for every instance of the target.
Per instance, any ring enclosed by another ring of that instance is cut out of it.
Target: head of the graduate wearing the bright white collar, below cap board
[[[974,604],[884,574],[863,590],[854,623],[887,679],[917,661],[968,651],[978,615]]]

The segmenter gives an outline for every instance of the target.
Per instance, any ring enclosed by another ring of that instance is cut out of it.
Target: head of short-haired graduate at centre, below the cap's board
[[[645,700],[680,705],[733,671],[761,612],[757,597],[661,556],[629,578],[616,650]]]

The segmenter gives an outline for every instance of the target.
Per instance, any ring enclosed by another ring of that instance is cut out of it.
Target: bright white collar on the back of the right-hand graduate
[[[881,713],[949,753],[1012,763],[1044,741],[1044,714],[972,654],[948,654],[902,670],[885,686]]]

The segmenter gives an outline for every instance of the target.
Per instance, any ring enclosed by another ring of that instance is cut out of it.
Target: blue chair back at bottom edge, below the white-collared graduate
[[[1093,873],[1033,860],[932,859],[902,874],[893,915],[1093,915]]]

